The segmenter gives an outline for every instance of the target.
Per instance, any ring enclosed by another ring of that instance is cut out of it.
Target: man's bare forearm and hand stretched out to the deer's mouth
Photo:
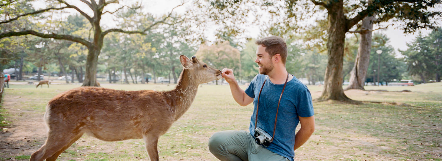
[[[238,82],[235,80],[232,69],[224,68],[222,69],[222,76],[225,81],[229,83],[230,91],[232,92],[233,99],[241,106],[246,106],[253,102],[253,98],[249,97],[244,90],[240,88]]]

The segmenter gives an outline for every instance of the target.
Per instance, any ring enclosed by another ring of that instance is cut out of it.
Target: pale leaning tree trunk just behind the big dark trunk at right
[[[371,34],[373,30],[374,17],[366,17],[362,20],[361,42],[359,43],[358,55],[354,60],[353,69],[350,72],[350,83],[347,89],[364,89],[364,82],[367,75],[367,69],[370,62]]]

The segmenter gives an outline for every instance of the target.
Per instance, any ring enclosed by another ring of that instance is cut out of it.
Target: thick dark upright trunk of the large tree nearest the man
[[[322,95],[317,99],[318,101],[330,99],[351,101],[351,99],[344,94],[342,88],[344,42],[345,33],[348,31],[346,21],[342,1],[328,9],[328,64],[324,75],[324,90],[322,91]]]

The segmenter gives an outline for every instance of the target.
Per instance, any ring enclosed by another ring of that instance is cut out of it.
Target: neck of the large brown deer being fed
[[[183,116],[192,105],[199,85],[195,80],[197,80],[197,78],[190,75],[188,69],[183,69],[179,76],[178,85],[174,90],[166,93],[175,120]]]

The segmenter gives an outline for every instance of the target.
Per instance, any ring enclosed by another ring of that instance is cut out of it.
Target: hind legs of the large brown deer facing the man
[[[66,133],[65,129],[50,130],[45,144],[30,156],[29,161],[54,161],[63,151],[72,145],[83,133]]]

